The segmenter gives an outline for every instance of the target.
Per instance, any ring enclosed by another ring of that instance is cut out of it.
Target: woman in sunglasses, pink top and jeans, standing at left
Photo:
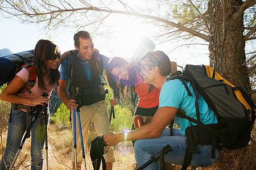
[[[63,61],[67,55],[61,56]],[[49,40],[39,40],[34,51],[34,73],[36,75],[35,84],[30,90],[19,92],[27,84],[30,74],[28,69],[20,70],[13,80],[2,92],[0,99],[12,103],[11,115],[9,118],[8,134],[5,154],[1,161],[1,169],[9,169],[14,156],[18,151],[24,132],[27,130],[26,124],[30,124],[27,111],[36,105],[44,105],[49,101],[49,96],[60,78],[60,51],[57,45]],[[46,93],[48,97],[42,96]],[[31,169],[43,168],[43,147],[46,132],[42,132],[42,127],[47,125],[49,111],[47,111],[47,122],[43,113],[40,113],[34,124],[31,126]],[[32,117],[32,116],[31,116]],[[41,129],[41,130],[40,130]]]

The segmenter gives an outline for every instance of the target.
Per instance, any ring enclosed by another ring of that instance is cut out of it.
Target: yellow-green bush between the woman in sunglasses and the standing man
[[[57,112],[52,117],[50,117],[50,123],[71,125],[71,122],[69,122],[69,115],[70,111],[63,103],[61,103],[60,107],[57,109]]]

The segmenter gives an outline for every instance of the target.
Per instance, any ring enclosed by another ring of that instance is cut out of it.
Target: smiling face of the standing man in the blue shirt
[[[79,57],[81,59],[90,59],[94,52],[94,44],[92,39],[82,39],[79,37],[79,46],[75,45],[75,48],[79,51]]]

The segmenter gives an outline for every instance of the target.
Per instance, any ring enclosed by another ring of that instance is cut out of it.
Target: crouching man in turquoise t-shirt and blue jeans
[[[191,123],[185,118],[176,116],[178,109],[185,111],[188,116],[196,118],[195,94],[188,96],[184,84],[179,80],[166,79],[171,73],[171,62],[166,54],[160,51],[148,53],[141,62],[144,81],[159,88],[159,108],[156,111],[152,122],[137,128],[129,133],[107,133],[104,141],[108,146],[116,145],[121,141],[137,140],[134,145],[135,159],[138,167],[151,159],[151,156],[162,150],[167,144],[172,151],[164,156],[164,161],[172,164],[182,165],[187,148],[185,129]],[[189,90],[193,93],[191,84],[186,82]],[[217,119],[213,111],[208,107],[203,97],[199,95],[200,120],[204,124],[216,124]],[[170,136],[170,129],[166,128],[172,120],[175,120],[180,129],[173,129]],[[198,154],[193,154],[190,165],[205,167],[216,162],[219,152],[215,149],[215,158],[212,159],[212,145],[197,145]],[[159,169],[158,163],[148,165],[148,169]]]

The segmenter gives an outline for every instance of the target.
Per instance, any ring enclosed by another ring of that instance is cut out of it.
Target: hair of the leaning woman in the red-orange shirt
[[[111,73],[115,67],[121,67],[123,64],[127,64],[129,66],[129,80],[119,79]],[[131,79],[131,77],[135,78],[137,73],[139,73],[139,71],[135,65],[135,61],[129,63],[122,57],[113,57],[111,59],[105,72],[105,79],[109,84],[109,87],[114,91],[114,97],[119,98],[119,92],[121,92],[122,96],[125,96],[129,87],[135,86],[136,79]]]

